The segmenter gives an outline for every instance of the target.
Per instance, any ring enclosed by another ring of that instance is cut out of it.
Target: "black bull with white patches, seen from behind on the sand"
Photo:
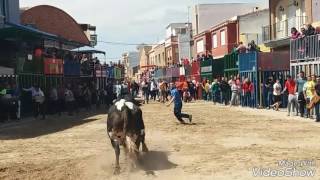
[[[120,173],[120,145],[124,146],[130,155],[135,157],[139,153],[140,144],[142,144],[143,152],[148,151],[145,144],[145,126],[142,111],[139,106],[131,101],[118,99],[110,107],[107,131],[116,155],[115,174]]]

